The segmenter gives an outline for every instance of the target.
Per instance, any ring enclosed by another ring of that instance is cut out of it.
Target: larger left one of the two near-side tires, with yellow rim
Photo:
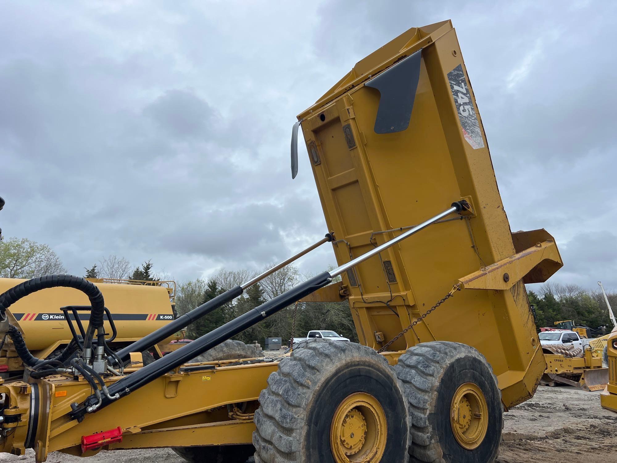
[[[259,404],[255,463],[408,461],[402,384],[360,344],[300,342],[268,377]]]

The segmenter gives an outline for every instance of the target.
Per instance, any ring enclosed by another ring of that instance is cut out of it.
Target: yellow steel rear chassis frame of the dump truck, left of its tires
[[[251,443],[255,428],[252,420],[238,423],[228,416],[225,404],[247,402],[245,413],[255,411],[257,397],[278,363],[225,366],[231,362],[210,362],[217,365],[215,369],[168,373],[96,414],[86,414],[81,423],[67,414],[70,404],[81,403],[92,393],[87,382],[65,377],[36,380],[41,394],[36,456],[43,461],[56,450],[81,455],[81,436],[118,426],[125,432],[125,439],[113,448]],[[116,380],[118,377],[106,378],[107,385]],[[3,451],[23,453],[30,388],[26,383],[0,386],[0,393],[8,394],[9,408],[21,418],[15,423],[18,431],[7,437]],[[51,407],[46,412],[48,400]]]

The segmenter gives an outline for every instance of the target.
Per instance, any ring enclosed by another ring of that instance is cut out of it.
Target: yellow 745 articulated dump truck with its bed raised
[[[33,448],[38,461],[155,447],[189,462],[495,461],[503,410],[531,398],[546,367],[524,283],[562,263],[546,231],[510,231],[452,23],[406,31],[298,119],[292,175],[301,127],[328,224],[310,248],[119,351],[107,346],[106,301],[91,282],[56,275],[0,295],[1,329],[28,365],[23,382],[0,385],[2,451]],[[336,269],[126,366],[328,242]],[[68,362],[37,359],[6,318],[56,286],[91,306],[83,355]],[[359,344],[306,340],[273,359],[231,340],[313,293],[349,300]]]

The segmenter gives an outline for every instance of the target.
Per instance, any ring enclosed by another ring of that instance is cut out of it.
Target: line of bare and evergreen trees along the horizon
[[[264,269],[273,264],[265,265]],[[117,278],[130,280],[159,281],[173,278],[154,271],[151,260],[133,265],[124,257],[101,258],[91,267],[85,267],[86,278]],[[0,277],[34,278],[50,273],[65,273],[67,270],[57,254],[46,244],[36,243],[27,238],[9,238],[0,241]],[[247,282],[260,272],[249,269],[221,269],[207,279],[198,278],[178,285],[175,311],[183,315],[204,304],[233,286]],[[204,319],[189,325],[187,336],[195,339],[214,328],[223,325],[238,315],[254,309],[269,299],[291,289],[311,275],[301,275],[294,265],[288,265],[278,272],[255,284],[239,298],[213,311]],[[578,285],[546,283],[539,290],[528,291],[533,307],[536,327],[553,327],[554,322],[574,320],[576,325],[598,329],[613,328],[608,317],[607,304],[598,289],[589,291]],[[617,293],[607,294],[612,307],[617,309]],[[294,321],[295,320],[295,321]],[[286,307],[268,319],[236,336],[236,339],[251,343],[264,338],[281,337],[287,343],[292,336],[305,336],[309,330],[334,330],[342,336],[357,341],[354,322],[347,302],[300,302],[297,306]]]

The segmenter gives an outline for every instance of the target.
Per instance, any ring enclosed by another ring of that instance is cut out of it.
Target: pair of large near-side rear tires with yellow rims
[[[390,367],[360,344],[302,341],[259,402],[256,463],[490,463],[499,453],[497,378],[466,344],[421,343]]]

